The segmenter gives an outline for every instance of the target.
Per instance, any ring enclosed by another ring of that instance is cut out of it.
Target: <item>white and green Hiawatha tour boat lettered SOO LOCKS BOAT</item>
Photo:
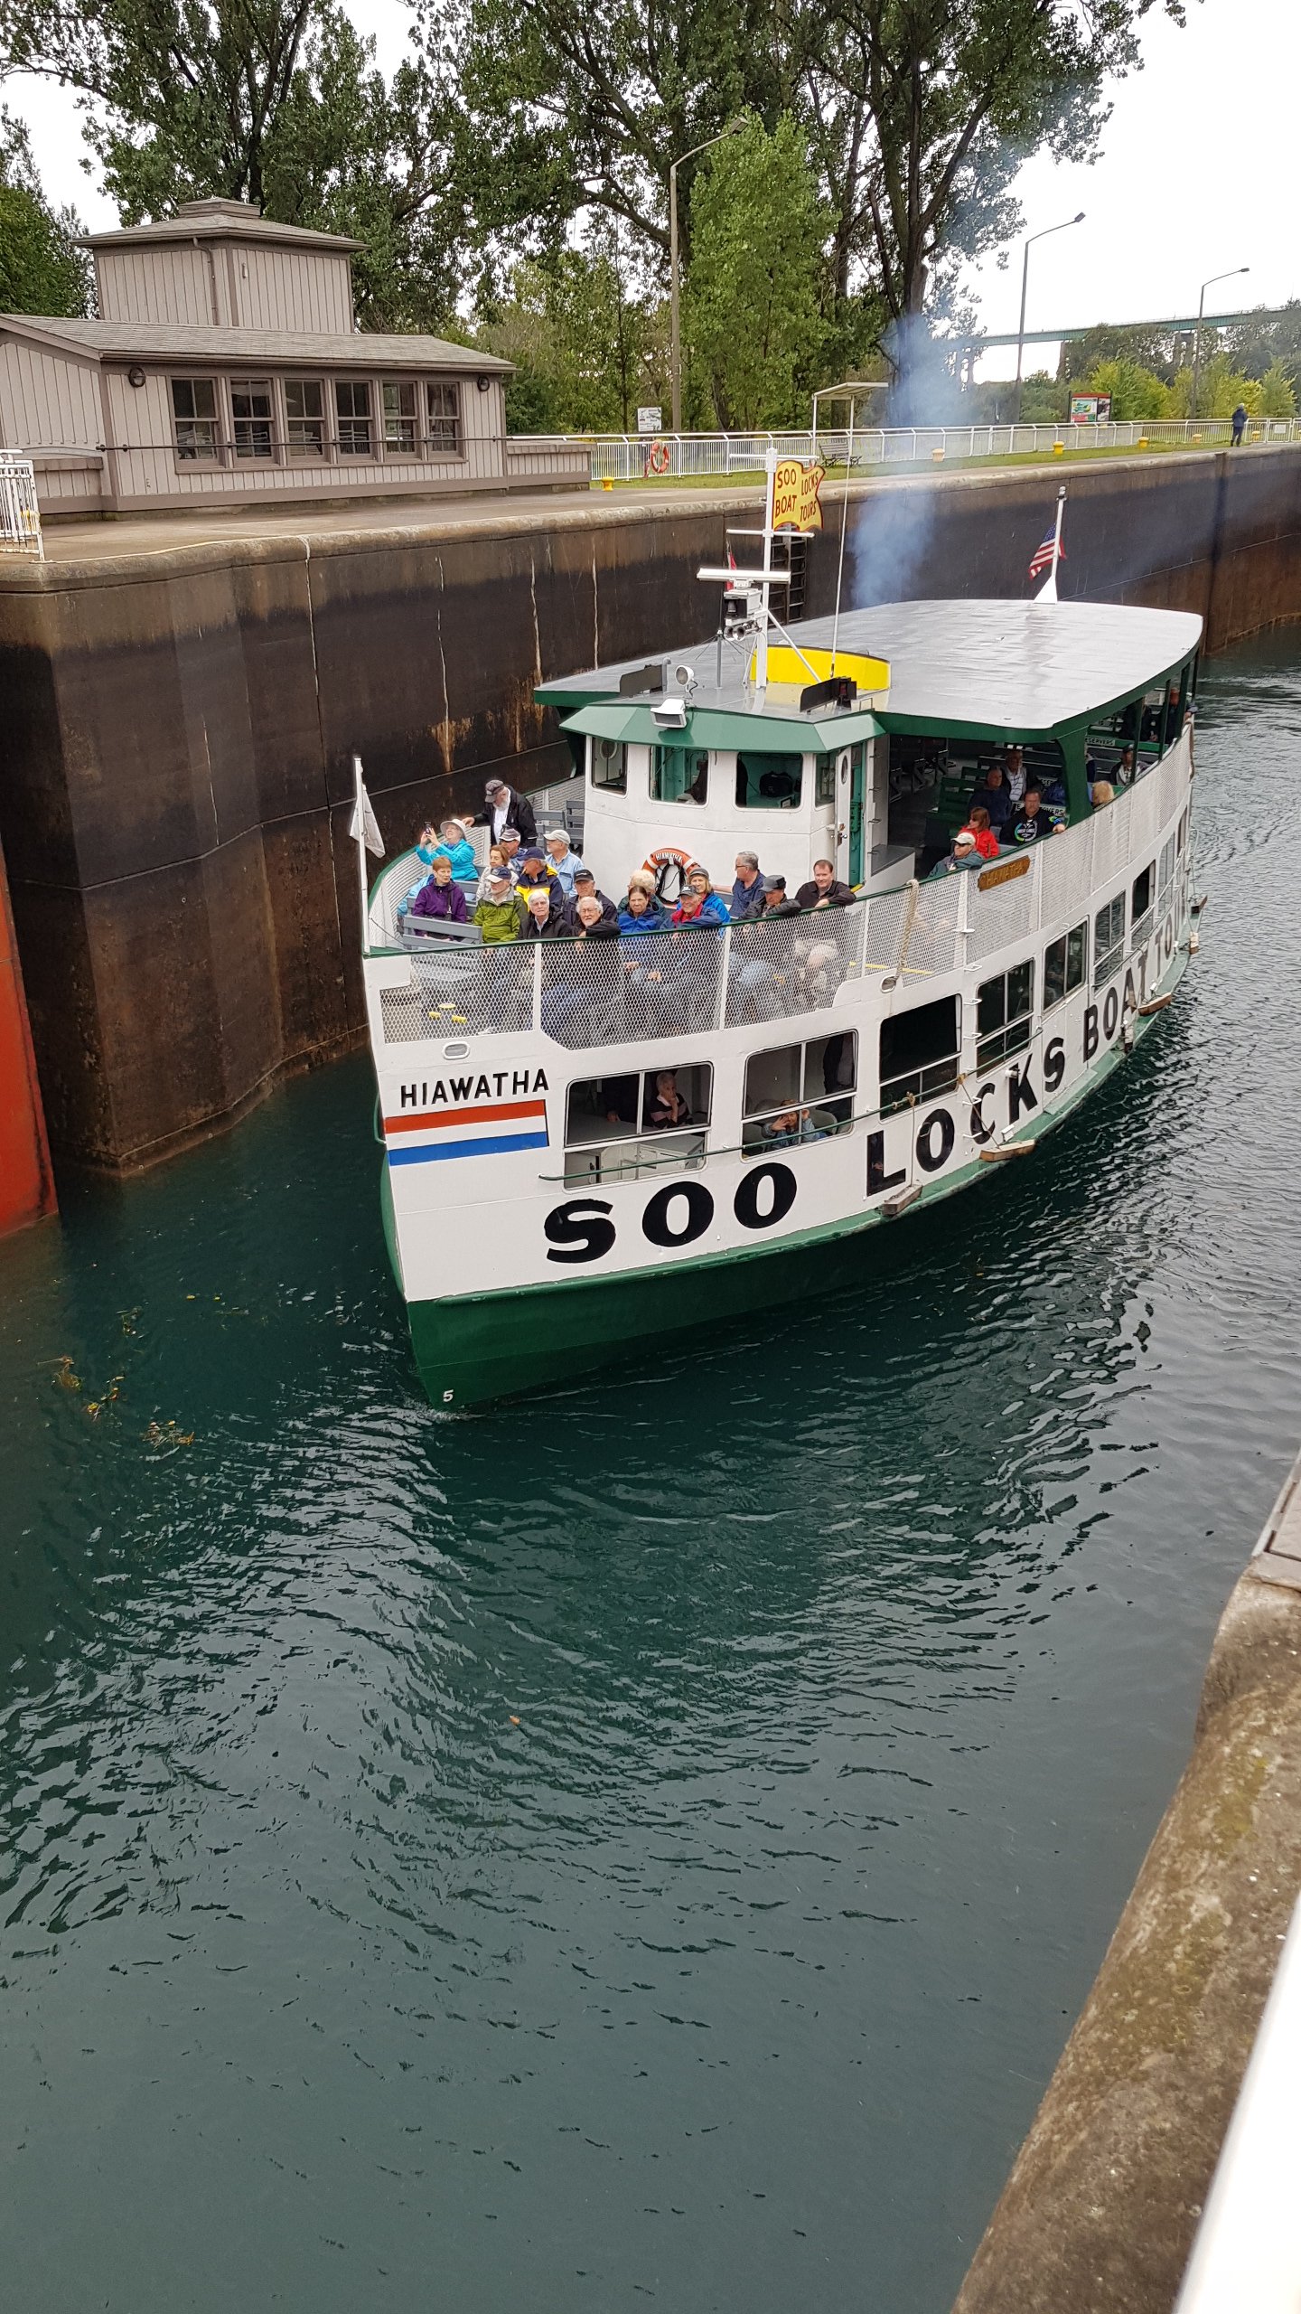
[[[732,886],[755,852],[792,896],[831,861],[847,905],[486,946],[398,916],[412,854],[363,879],[384,1231],[435,1407],[850,1282],[875,1231],[1123,1067],[1197,949],[1199,618],[1049,595],[782,627],[759,535],[759,572],[701,574],[727,585],[718,639],[537,697],[602,893],[644,863]],[[1065,798],[1053,831],[949,872],[1009,747]],[[676,1122],[653,1127],[662,1071]]]

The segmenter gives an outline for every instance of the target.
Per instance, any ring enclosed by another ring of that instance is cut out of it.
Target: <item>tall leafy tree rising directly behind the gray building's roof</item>
[[[366,241],[359,317],[451,308],[465,192],[433,49],[375,69],[336,0],[0,0],[0,69],[74,88],[125,222],[225,194]]]

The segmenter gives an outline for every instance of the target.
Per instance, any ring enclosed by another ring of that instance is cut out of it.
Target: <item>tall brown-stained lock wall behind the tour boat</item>
[[[1026,595],[1060,470],[857,486],[847,602]],[[738,493],[250,535],[0,569],[0,845],[56,1157],[134,1166],[361,1034],[361,754],[389,849],[495,766],[565,773],[542,676],[715,629]],[[1301,616],[1301,451],[1070,474],[1063,597],[1197,609],[1211,648]],[[838,504],[810,539],[831,609]]]

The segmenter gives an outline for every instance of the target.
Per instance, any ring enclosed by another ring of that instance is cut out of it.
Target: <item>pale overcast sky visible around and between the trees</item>
[[[361,30],[380,39],[380,62],[403,53],[400,0],[350,0]],[[1197,312],[1199,285],[1229,266],[1206,310],[1280,305],[1301,294],[1296,229],[1296,88],[1301,0],[1190,0],[1188,30],[1164,14],[1144,25],[1144,72],[1113,90],[1102,155],[1086,169],[1035,160],[1021,171],[1026,231],[1086,211],[1030,255],[1028,329],[1053,322],[1132,322]],[[28,120],[56,201],[74,201],[90,227],[113,224],[97,180],[81,171],[72,97],[37,81],[9,81],[9,106]],[[1000,271],[970,278],[984,329],[1016,329],[1021,245]],[[1009,375],[1014,356],[988,354],[977,375]],[[1028,370],[1056,368],[1056,347],[1030,347]]]

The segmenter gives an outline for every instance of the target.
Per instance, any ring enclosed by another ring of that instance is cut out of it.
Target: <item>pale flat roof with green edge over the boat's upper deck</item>
[[[826,650],[831,618],[806,618],[789,641]],[[889,662],[889,690],[850,708],[801,710],[796,685],[773,685],[759,699],[748,683],[752,636],[662,655],[669,687],[685,690],[676,669],[692,671],[688,727],[664,731],[653,720],[650,685],[620,697],[620,680],[644,673],[620,659],[542,683],[537,699],[572,708],[565,727],[597,738],[653,738],[681,747],[766,745],[831,752],[877,731],[979,731],[1007,740],[1051,738],[1153,690],[1192,657],[1201,620],[1188,611],[1148,611],[1116,602],[887,602],[843,611],[838,650]],[[796,738],[796,729],[801,729]]]

